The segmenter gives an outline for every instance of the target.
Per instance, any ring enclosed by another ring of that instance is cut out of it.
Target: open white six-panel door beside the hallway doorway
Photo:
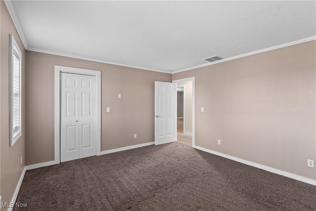
[[[155,82],[155,145],[175,141],[175,84]]]

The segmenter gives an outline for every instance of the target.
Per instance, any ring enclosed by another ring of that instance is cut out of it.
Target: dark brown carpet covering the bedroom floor
[[[32,211],[315,211],[315,197],[313,185],[170,143],[27,170],[16,202]]]

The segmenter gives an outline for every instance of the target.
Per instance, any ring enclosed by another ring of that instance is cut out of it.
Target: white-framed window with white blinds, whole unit
[[[10,146],[22,136],[21,60],[21,50],[10,35]]]

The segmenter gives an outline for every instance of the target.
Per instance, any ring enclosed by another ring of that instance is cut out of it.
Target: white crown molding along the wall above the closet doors
[[[105,64],[118,65],[118,66],[123,66],[123,67],[136,68],[136,69],[141,69],[141,70],[149,70],[149,71],[154,71],[154,72],[159,72],[159,73],[171,74],[170,72],[162,71],[162,70],[155,70],[155,69],[151,69],[151,68],[138,67],[138,66],[134,66],[134,65],[128,65],[128,64],[122,64],[122,63],[117,63],[117,62],[105,61],[105,60],[101,60],[101,59],[92,59],[92,58],[87,58],[87,57],[84,57],[84,56],[76,56],[76,55],[71,55],[71,54],[67,54],[67,53],[59,53],[59,52],[54,52],[54,51],[49,51],[49,50],[42,50],[42,49],[33,48],[33,47],[29,47],[26,50],[39,52],[39,53],[47,53],[47,54],[52,54],[52,55],[57,55],[57,56],[70,57],[70,58],[75,58],[75,59],[82,59],[82,60],[93,61],[93,62],[100,62],[100,63],[105,63]]]

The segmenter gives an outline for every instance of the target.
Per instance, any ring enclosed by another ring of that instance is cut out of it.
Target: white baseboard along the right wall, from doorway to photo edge
[[[236,158],[234,156],[226,155],[226,154],[223,154],[223,153],[220,153],[220,152],[216,152],[216,151],[209,150],[209,149],[206,149],[206,148],[203,148],[203,147],[199,147],[199,146],[196,146],[196,145],[193,146],[193,148],[201,150],[201,151],[204,151],[204,152],[208,152],[208,153],[211,153],[211,154],[214,154],[214,155],[218,155],[218,156],[221,156],[221,157],[224,157],[224,158],[228,158],[230,160],[237,161],[239,163],[246,164],[248,166],[252,166],[252,167],[256,167],[258,169],[263,169],[263,170],[266,170],[266,171],[270,171],[272,173],[283,175],[283,176],[286,176],[286,177],[289,177],[289,178],[292,178],[292,179],[296,179],[296,180],[299,180],[301,182],[305,182],[305,183],[308,183],[308,184],[316,186],[316,180],[315,179],[307,178],[305,176],[300,176],[300,175],[297,175],[297,174],[294,174],[294,173],[290,173],[290,172],[287,172],[287,171],[283,171],[283,170],[279,170],[279,169],[274,169],[274,168],[267,167],[267,166],[264,166],[264,165],[261,165],[261,164],[257,164],[257,163],[251,162],[251,161],[247,161],[247,160],[243,160],[243,159],[240,159],[240,158]]]

